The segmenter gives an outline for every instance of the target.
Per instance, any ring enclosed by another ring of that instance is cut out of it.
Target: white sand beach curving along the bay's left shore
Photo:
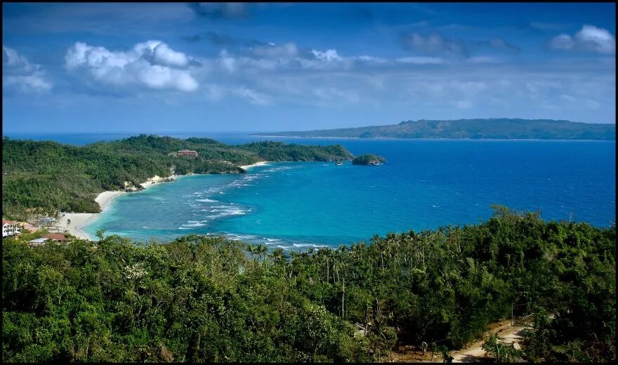
[[[157,183],[165,183],[170,180],[173,181],[178,177],[179,175],[171,175],[168,178],[161,178],[158,175],[155,175],[141,185],[144,189],[148,189],[149,187],[152,187],[152,185]],[[110,208],[112,201],[114,201],[114,199],[119,197],[121,194],[126,194],[126,192],[119,190],[106,191],[98,194],[94,200],[99,204],[101,207],[101,213],[103,213],[107,210],[107,208]],[[62,218],[60,218],[60,227],[66,227],[66,230],[77,238],[93,240],[93,237],[88,236],[88,234],[84,231],[84,227],[92,223],[93,220],[99,218],[101,213],[63,213]],[[69,220],[71,220],[70,224],[68,224]]]

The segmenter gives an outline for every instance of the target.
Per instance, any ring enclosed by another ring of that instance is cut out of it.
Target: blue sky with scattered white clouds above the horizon
[[[3,3],[3,133],[616,119],[615,4]]]

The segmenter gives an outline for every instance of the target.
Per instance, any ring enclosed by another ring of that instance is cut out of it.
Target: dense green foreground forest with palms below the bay
[[[614,361],[616,227],[494,210],[305,252],[6,239],[3,359],[384,361],[410,344],[447,354],[513,311],[535,318],[520,359]]]

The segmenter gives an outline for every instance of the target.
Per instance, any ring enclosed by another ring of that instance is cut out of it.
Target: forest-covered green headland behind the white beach
[[[197,157],[177,156],[195,150]],[[27,209],[97,213],[94,200],[124,183],[140,187],[147,178],[172,173],[243,173],[257,161],[342,161],[353,155],[341,145],[301,146],[282,142],[225,145],[209,138],[139,135],[83,147],[33,140],[2,141],[2,213],[25,220]]]

